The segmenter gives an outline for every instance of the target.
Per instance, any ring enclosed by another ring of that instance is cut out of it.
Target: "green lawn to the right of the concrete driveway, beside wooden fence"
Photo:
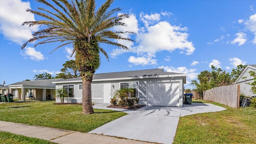
[[[256,108],[226,108],[180,117],[173,144],[256,144]]]

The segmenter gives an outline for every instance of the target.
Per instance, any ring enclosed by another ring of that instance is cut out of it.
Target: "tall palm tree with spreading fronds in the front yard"
[[[106,56],[108,54],[100,47],[100,43],[118,46],[123,49],[128,49],[127,46],[119,44],[112,40],[128,40],[130,38],[124,34],[134,34],[129,31],[113,31],[114,26],[126,26],[122,20],[129,18],[128,14],[118,14],[112,16],[114,13],[120,11],[120,8],[114,8],[108,11],[108,8],[114,0],[106,0],[98,10],[95,10],[95,0],[52,0],[50,4],[46,0],[36,0],[45,4],[50,8],[38,8],[39,11],[27,9],[38,16],[45,18],[44,20],[23,22],[22,26],[44,26],[43,30],[39,30],[32,34],[33,38],[22,45],[22,49],[30,42],[42,40],[38,44],[45,44],[50,42],[60,42],[56,49],[73,44],[75,54],[76,66],[80,72],[83,84],[82,103],[83,113],[93,114],[92,108],[92,93],[91,83],[92,76],[96,69],[100,66],[100,52]],[[70,2],[70,3],[69,3]]]

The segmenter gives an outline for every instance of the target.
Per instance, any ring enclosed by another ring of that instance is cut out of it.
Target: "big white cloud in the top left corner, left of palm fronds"
[[[30,2],[21,0],[0,0],[0,32],[12,42],[22,45],[32,38],[38,26],[21,26],[25,21],[34,21],[34,14],[26,12]],[[31,9],[31,8],[30,8]]]

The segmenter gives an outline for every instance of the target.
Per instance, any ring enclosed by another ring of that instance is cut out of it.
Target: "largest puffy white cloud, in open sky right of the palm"
[[[180,49],[186,50],[186,54],[192,54],[195,50],[193,43],[189,42],[188,34],[184,32],[187,28],[172,26],[168,22],[159,22],[147,28],[146,33],[139,33],[136,41],[138,52],[156,53],[159,51]]]

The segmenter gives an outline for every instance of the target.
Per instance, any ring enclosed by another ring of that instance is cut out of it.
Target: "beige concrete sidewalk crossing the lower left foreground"
[[[111,136],[46,128],[41,126],[30,126],[4,121],[0,121],[0,131],[49,140],[58,144],[149,144],[148,142],[119,139]]]

